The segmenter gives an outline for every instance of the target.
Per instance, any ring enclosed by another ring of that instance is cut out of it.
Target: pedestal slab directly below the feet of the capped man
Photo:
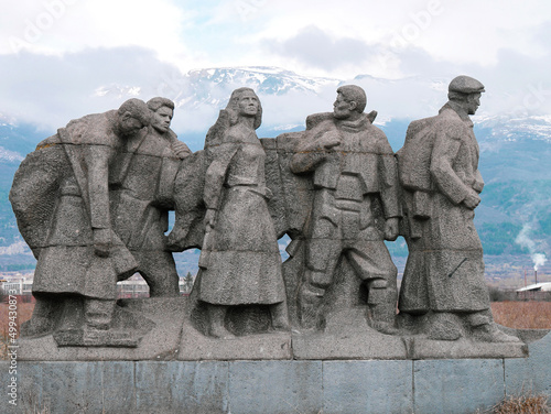
[[[505,396],[503,360],[413,362],[414,413],[473,413]]]

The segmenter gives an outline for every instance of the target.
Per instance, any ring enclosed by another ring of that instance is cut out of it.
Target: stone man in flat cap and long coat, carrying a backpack
[[[413,121],[398,152],[409,257],[399,309],[429,338],[518,341],[494,323],[474,209],[484,181],[469,119],[484,85],[457,76],[436,117]]]

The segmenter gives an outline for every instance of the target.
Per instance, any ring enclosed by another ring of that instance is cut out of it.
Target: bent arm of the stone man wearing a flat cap
[[[453,170],[454,160],[460,152],[461,145],[461,138],[450,137],[446,131],[439,132],[431,155],[431,175],[439,189],[452,203],[460,204],[466,201],[473,204],[474,199],[472,198],[478,196],[463,183]]]

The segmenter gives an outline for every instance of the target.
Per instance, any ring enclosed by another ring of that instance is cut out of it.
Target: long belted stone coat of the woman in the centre
[[[216,209],[199,260],[199,299],[217,305],[276,304],[285,291],[268,210],[264,151],[253,130],[230,127],[207,150],[204,200]]]

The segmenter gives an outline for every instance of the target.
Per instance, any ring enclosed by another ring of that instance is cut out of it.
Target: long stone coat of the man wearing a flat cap
[[[428,217],[406,220],[419,227],[420,237],[412,238],[411,229],[406,231],[410,254],[399,308],[406,313],[485,310],[489,298],[482,243],[474,210],[462,204],[469,192],[479,193],[484,186],[473,122],[447,103],[434,118],[433,132],[431,165],[426,167],[435,189],[425,198]],[[412,216],[413,193],[404,190],[403,196],[407,215]]]

